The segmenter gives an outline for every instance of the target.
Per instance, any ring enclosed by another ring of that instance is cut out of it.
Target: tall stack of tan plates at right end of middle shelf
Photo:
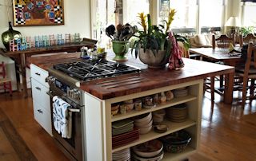
[[[166,108],[166,118],[172,122],[184,122],[188,115],[186,104],[178,104],[171,108]]]

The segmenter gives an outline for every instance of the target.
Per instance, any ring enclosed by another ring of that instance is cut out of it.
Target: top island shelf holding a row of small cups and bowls
[[[163,108],[168,108],[176,104],[182,104],[197,99],[197,96],[189,94],[188,88],[181,88],[180,90],[183,90],[184,92],[180,94],[181,92],[177,92],[178,90],[174,90],[174,92],[167,91],[157,93],[152,96],[145,96],[134,100],[125,100],[111,104],[111,121],[124,120],[126,118],[139,116],[147,112],[158,111]]]

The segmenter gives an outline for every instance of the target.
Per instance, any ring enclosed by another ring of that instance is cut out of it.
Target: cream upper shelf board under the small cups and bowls
[[[132,110],[131,112],[127,112],[126,114],[118,113],[117,115],[112,116],[111,121],[114,122],[114,121],[118,121],[118,120],[124,120],[124,119],[130,118],[130,117],[139,116],[139,115],[142,115],[142,114],[148,113],[148,112],[154,112],[154,111],[157,111],[162,108],[169,108],[171,106],[174,106],[177,104],[183,104],[183,103],[190,102],[190,101],[196,100],[196,99],[197,99],[197,96],[192,96],[192,95],[175,97],[173,100],[166,101],[166,103],[164,103],[164,104],[158,104],[155,108],[150,108],[150,109],[142,108],[142,110],[140,110],[140,111]]]

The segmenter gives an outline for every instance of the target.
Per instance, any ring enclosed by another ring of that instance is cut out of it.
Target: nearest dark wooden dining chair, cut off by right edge
[[[254,56],[254,57],[252,57]],[[250,42],[247,49],[246,64],[235,69],[235,74],[242,77],[242,106],[246,104],[246,92],[248,81],[250,80],[250,96],[249,99],[254,98],[254,86],[256,80],[256,46]]]

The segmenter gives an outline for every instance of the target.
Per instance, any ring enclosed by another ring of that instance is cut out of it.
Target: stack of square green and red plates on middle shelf
[[[134,129],[134,121],[120,120],[112,124],[112,147],[130,143],[139,138],[138,129]]]

